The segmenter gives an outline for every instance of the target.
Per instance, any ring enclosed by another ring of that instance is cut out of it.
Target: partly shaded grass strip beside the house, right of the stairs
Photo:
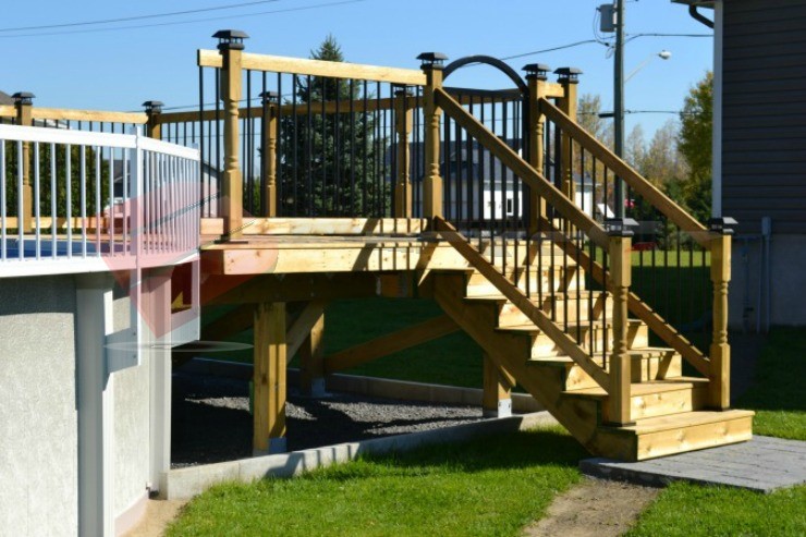
[[[756,411],[753,430],[806,441],[806,330],[774,328],[756,364],[755,385],[737,402]]]

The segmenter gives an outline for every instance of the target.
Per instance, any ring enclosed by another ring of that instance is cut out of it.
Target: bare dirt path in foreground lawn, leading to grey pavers
[[[659,490],[618,481],[585,479],[554,499],[545,518],[525,537],[611,537],[624,534]]]

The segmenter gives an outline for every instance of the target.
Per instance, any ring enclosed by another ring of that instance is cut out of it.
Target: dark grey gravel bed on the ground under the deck
[[[173,374],[172,467],[252,456],[248,382]],[[479,422],[477,406],[332,393],[309,399],[289,387],[289,451]]]

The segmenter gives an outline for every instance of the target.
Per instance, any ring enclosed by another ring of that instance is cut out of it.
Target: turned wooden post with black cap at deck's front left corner
[[[221,100],[224,109],[224,169],[221,193],[221,215],[224,233],[222,241],[239,239],[243,234],[244,185],[239,162],[239,105],[242,95],[241,60],[243,40],[248,36],[236,29],[221,29],[218,38],[221,52]]]

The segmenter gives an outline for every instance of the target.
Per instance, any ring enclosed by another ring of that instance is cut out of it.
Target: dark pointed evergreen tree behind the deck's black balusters
[[[341,47],[332,36],[312,51],[310,57],[344,61]],[[279,168],[281,213],[309,217],[389,213],[390,187],[380,169],[387,143],[375,132],[374,113],[361,110],[370,98],[367,91],[368,86],[359,81],[297,77],[292,97],[296,100],[296,115],[283,117],[280,125],[284,139]],[[328,109],[327,113],[322,113],[323,108]]]

